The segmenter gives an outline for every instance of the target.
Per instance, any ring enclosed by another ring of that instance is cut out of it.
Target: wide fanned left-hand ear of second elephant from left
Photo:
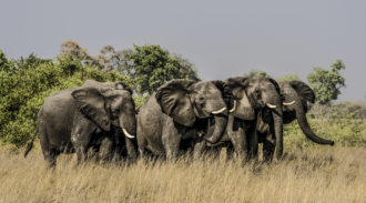
[[[162,111],[182,125],[192,126],[195,114],[189,95],[191,80],[175,79],[166,82],[156,91],[155,99]]]

